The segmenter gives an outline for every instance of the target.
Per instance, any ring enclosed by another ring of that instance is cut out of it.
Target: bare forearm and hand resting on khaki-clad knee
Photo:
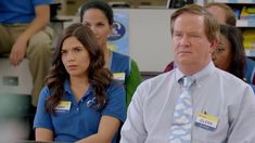
[[[10,53],[10,63],[14,66],[18,65],[26,53],[27,43],[31,36],[34,36],[39,30],[43,29],[50,20],[50,6],[49,5],[37,5],[35,8],[36,17],[28,25],[25,31],[20,35],[12,47]]]

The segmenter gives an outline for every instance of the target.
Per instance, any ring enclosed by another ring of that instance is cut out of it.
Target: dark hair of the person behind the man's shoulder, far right
[[[243,79],[243,70],[245,67],[245,52],[243,48],[243,35],[234,26],[220,25],[220,34],[230,42],[232,60],[228,72]]]

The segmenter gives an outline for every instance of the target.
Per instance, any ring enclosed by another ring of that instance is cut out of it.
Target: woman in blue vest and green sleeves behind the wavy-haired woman
[[[91,0],[80,10],[80,22],[89,26],[104,51],[105,65],[114,75],[114,79],[126,87],[127,105],[142,78],[137,63],[131,57],[107,49],[107,37],[113,28],[113,10],[104,1]]]

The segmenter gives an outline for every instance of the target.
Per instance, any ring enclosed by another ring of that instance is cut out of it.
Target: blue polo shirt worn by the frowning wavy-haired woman
[[[47,128],[54,132],[56,142],[75,142],[98,132],[100,119],[103,115],[115,117],[123,122],[126,119],[125,89],[122,84],[111,83],[107,93],[107,103],[103,109],[97,109],[94,89],[90,87],[82,99],[77,103],[71,90],[69,81],[64,82],[65,95],[62,101],[71,102],[67,110],[55,110],[55,115],[48,114],[44,103],[50,90],[44,87],[40,93],[34,128]],[[112,141],[116,142],[117,133]]]

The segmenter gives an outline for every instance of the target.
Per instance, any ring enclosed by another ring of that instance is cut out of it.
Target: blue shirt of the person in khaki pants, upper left
[[[50,3],[52,0],[0,0],[0,23],[30,23],[36,16],[35,6]]]

